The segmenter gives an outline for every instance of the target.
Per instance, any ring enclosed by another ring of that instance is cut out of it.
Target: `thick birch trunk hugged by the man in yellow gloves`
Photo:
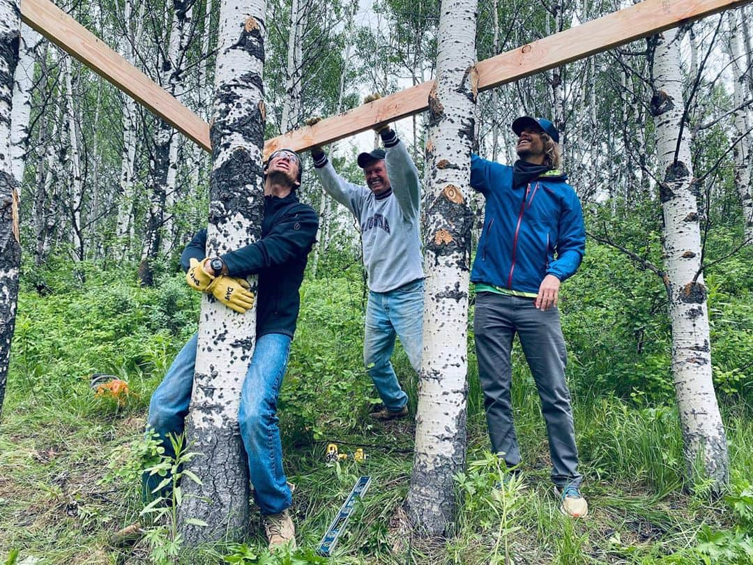
[[[218,32],[207,255],[261,237],[264,146],[264,0],[224,0]],[[249,281],[255,292],[256,279]],[[240,391],[252,357],[256,310],[240,315],[204,295],[194,390],[187,417],[188,465],[181,533],[189,546],[239,539],[248,530],[248,466],[239,435]],[[209,526],[189,524],[199,518]]]

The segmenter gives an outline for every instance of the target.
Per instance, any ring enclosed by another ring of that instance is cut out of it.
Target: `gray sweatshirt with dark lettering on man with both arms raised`
[[[327,194],[346,206],[361,226],[364,265],[373,292],[389,292],[424,278],[419,173],[394,132],[386,132],[383,142],[392,190],[379,196],[335,173],[325,154],[314,160],[316,176]]]

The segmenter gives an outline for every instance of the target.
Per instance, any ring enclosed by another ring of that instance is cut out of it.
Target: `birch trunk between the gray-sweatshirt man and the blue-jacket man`
[[[453,521],[465,466],[471,146],[477,98],[475,0],[443,0],[426,142],[425,310],[416,450],[407,511],[419,532]]]

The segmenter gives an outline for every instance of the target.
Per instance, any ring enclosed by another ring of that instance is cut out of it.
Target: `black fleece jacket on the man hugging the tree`
[[[300,308],[298,289],[303,282],[309,251],[316,240],[319,216],[291,192],[285,198],[264,197],[261,240],[236,249],[222,260],[230,276],[259,275],[256,335],[293,337]],[[206,256],[206,228],[199,231],[181,255],[181,266]]]

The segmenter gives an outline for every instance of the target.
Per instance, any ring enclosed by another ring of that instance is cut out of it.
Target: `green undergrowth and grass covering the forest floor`
[[[617,268],[608,250],[594,255]],[[111,548],[108,536],[142,510],[144,463],[133,446],[143,445],[151,391],[196,329],[197,296],[180,276],[165,275],[154,289],[114,282],[94,268],[81,276],[83,282],[47,277],[46,295],[29,288],[20,296],[0,423],[0,563],[154,562],[147,543]],[[524,472],[521,481],[500,481],[504,469],[487,452],[471,348],[468,465],[456,477],[456,529],[441,542],[410,535],[401,503],[410,486],[413,423],[367,418],[377,401],[362,369],[364,287],[360,270],[346,269],[304,282],[280,398],[300,550],[270,557],[254,512],[244,542],[200,548],[176,562],[753,563],[753,406],[748,374],[737,370],[750,355],[738,350],[748,344],[745,299],[718,283],[709,298],[717,316],[715,379],[729,386],[720,396],[732,463],[729,489],[714,498],[706,485],[684,478],[678,415],[666,393],[666,324],[648,313],[625,322],[619,301],[587,292],[603,276],[586,270],[562,308],[588,518],[559,513],[538,396],[519,347],[513,402]],[[654,282],[630,276],[651,310]],[[749,285],[734,292],[748,296]],[[635,304],[643,307],[637,298]],[[640,352],[636,340],[645,342]],[[399,347],[395,368],[414,413],[416,378]],[[89,386],[96,372],[127,380],[129,394],[120,402],[96,396]],[[349,457],[325,463],[330,442]],[[357,447],[367,455],[363,463],[353,460]],[[360,475],[370,475],[369,493],[325,561],[314,549]]]

